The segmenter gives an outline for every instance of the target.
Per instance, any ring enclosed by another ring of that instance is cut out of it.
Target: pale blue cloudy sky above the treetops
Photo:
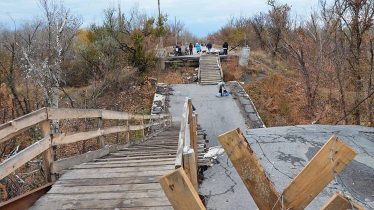
[[[58,0],[56,0],[58,1]],[[169,19],[181,19],[187,28],[198,36],[206,36],[217,31],[230,15],[250,16],[259,11],[267,11],[266,0],[160,0],[161,10],[169,14]],[[83,17],[83,26],[101,22],[103,9],[118,0],[64,0],[65,5]],[[157,0],[120,0],[123,11],[128,11],[135,3],[149,15],[158,13]],[[316,8],[318,0],[279,0],[292,7],[292,13],[307,16]],[[17,24],[21,20],[41,15],[36,0],[0,0],[0,22],[10,25],[11,15]]]

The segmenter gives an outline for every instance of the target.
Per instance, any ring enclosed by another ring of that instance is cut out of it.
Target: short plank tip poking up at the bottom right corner
[[[352,204],[352,205],[351,205]],[[358,205],[356,202],[348,201],[341,193],[336,192],[330,199],[324,204],[321,210],[350,210],[352,206],[356,210],[364,210],[364,208]]]

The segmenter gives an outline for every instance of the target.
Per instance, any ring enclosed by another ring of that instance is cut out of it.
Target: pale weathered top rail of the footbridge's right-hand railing
[[[181,129],[179,132],[179,138],[178,138],[178,150],[177,150],[177,157],[176,157],[176,169],[182,166],[182,156],[183,156],[183,148],[185,146],[185,132],[186,132],[186,119],[188,116],[188,98],[185,98],[185,104],[183,106],[183,113],[182,113],[182,119],[181,119]]]

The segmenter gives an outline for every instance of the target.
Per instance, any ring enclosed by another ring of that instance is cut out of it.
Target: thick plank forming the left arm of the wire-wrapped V
[[[260,210],[271,210],[279,198],[261,162],[239,128],[218,136],[226,154]],[[281,209],[279,203],[275,209]]]

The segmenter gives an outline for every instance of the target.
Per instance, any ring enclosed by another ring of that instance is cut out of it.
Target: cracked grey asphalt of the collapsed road
[[[237,127],[243,132],[246,130],[248,143],[279,192],[287,187],[291,178],[302,170],[331,135],[338,136],[358,152],[340,173],[343,183],[349,189],[345,192],[354,201],[361,202],[366,209],[374,209],[374,128],[302,125],[248,129],[245,124],[247,116],[243,117],[235,98],[231,95],[216,98],[215,85],[185,84],[171,87],[173,91],[168,99],[174,121],[180,121],[184,98],[189,96],[199,114],[198,122],[206,130],[208,146],[219,145],[217,136],[224,132]],[[260,146],[275,167],[271,167]],[[217,164],[204,172],[204,178],[199,193],[206,196],[208,210],[257,209],[226,154],[218,156]],[[341,186],[332,181],[306,209],[319,209],[336,190],[344,190]]]

